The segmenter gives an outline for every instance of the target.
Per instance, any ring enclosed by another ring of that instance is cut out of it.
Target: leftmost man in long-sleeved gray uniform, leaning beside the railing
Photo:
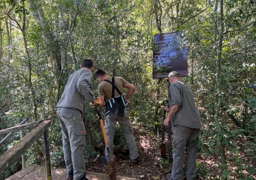
[[[57,104],[67,179],[87,180],[85,171],[85,125],[82,114],[85,99],[100,104],[91,92],[93,61],[83,60],[81,69],[72,73]]]

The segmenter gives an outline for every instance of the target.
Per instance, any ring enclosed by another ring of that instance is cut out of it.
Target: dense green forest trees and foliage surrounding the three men
[[[203,125],[199,156],[214,159],[215,168],[197,163],[198,174],[202,179],[255,179],[255,7],[255,0],[1,0],[0,129],[25,117],[32,122],[51,116],[51,163],[63,167],[56,104],[69,75],[91,58],[94,69],[135,85],[130,119],[157,136],[167,85],[166,79],[152,78],[153,35],[179,31],[188,49],[188,76],[182,81],[194,93]],[[97,85],[94,79],[96,96]],[[85,114],[90,158],[102,136],[88,104]],[[117,132],[116,146],[122,146],[125,140]],[[19,139],[13,135],[0,153]],[[42,140],[25,157],[26,165],[43,164]],[[15,163],[6,177],[20,168]]]

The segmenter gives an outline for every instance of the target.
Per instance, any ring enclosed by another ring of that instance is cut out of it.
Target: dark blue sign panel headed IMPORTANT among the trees
[[[153,78],[167,78],[171,71],[188,74],[188,50],[181,43],[179,32],[154,35]]]

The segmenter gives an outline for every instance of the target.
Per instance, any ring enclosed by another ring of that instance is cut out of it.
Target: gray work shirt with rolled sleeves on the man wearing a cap
[[[169,106],[178,105],[179,110],[171,117],[171,124],[200,129],[200,115],[194,95],[186,84],[178,80],[169,87]]]

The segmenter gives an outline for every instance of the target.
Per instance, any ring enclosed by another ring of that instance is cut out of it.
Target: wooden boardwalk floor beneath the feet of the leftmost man
[[[100,174],[96,172],[87,172],[86,177],[89,180],[109,180],[108,174]],[[14,175],[8,177],[6,180],[45,180],[46,171],[45,166],[29,166]],[[66,180],[65,168],[52,168],[52,180]],[[136,180],[136,178],[117,176],[117,180]]]

